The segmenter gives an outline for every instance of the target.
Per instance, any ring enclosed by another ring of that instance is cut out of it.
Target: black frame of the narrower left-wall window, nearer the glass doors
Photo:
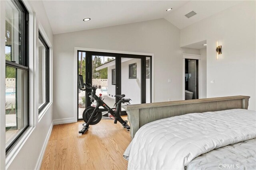
[[[50,103],[50,47],[47,45],[46,41],[44,40],[44,37],[42,36],[42,33],[40,30],[38,31],[38,39],[43,43],[45,47],[45,102],[44,104],[38,108],[38,114],[42,112],[42,110],[47,106],[48,103]]]

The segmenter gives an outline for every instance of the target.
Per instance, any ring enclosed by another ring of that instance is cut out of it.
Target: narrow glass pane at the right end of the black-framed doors
[[[146,103],[150,103],[150,57],[146,57]]]

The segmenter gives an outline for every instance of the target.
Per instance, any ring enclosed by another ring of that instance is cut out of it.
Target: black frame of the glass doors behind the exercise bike
[[[104,56],[104,57],[115,57],[115,64],[116,64],[116,94],[121,94],[122,90],[122,73],[121,73],[121,59],[122,58],[133,58],[133,59],[141,59],[141,103],[146,103],[146,57],[150,58],[150,103],[152,102],[152,56],[151,55],[133,55],[133,54],[121,54],[121,53],[106,53],[106,52],[95,52],[95,51],[83,51],[78,50],[77,56],[79,52],[86,53],[85,57],[85,64],[86,64],[86,83],[92,84],[92,56]],[[78,63],[78,60],[77,60]],[[77,67],[77,71],[78,71]],[[77,92],[78,93],[78,92]],[[86,107],[90,106],[90,98],[87,96],[86,98]],[[116,102],[118,99],[116,98]],[[78,96],[77,96],[78,101]],[[78,102],[77,102],[78,104]],[[124,113],[123,113],[124,114]],[[77,109],[78,115],[78,109]],[[122,115],[122,113],[121,113]],[[78,120],[79,119],[78,116]]]

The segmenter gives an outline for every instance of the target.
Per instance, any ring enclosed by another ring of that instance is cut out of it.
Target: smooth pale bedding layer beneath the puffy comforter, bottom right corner
[[[255,156],[256,138],[201,154],[186,166],[186,170],[255,170]]]

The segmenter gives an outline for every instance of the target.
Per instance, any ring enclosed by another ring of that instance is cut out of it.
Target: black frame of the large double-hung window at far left
[[[21,47],[20,47],[20,59],[19,62],[16,63],[16,61],[5,61],[5,66],[10,66],[12,68],[20,69],[20,70],[25,70],[28,74],[28,82],[27,82],[27,88],[28,88],[28,103],[27,103],[27,117],[28,117],[28,124],[21,130],[18,135],[13,139],[13,141],[6,147],[6,154],[12,149],[12,147],[16,144],[16,142],[20,139],[20,137],[24,134],[24,132],[27,130],[27,128],[30,126],[29,125],[29,13],[22,2],[22,0],[11,0],[11,2],[14,4],[14,6],[18,7],[19,10],[21,11]],[[24,113],[25,114],[25,113]],[[6,128],[8,129],[8,128]]]

